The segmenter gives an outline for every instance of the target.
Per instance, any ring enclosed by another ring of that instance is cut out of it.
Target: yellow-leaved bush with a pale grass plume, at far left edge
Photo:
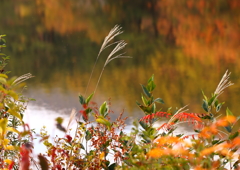
[[[26,149],[31,142],[32,130],[23,122],[23,113],[31,99],[17,91],[22,89],[22,82],[32,75],[28,73],[18,78],[8,78],[9,71],[5,67],[10,57],[1,51],[6,47],[4,36],[0,35],[0,169],[21,169],[21,164],[30,161],[30,156],[23,152],[23,147]],[[19,131],[20,127],[23,131]],[[32,148],[27,149],[30,152]],[[27,159],[22,159],[26,156]]]

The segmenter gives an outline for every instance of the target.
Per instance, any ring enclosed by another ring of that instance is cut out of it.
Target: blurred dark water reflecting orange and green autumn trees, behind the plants
[[[131,59],[116,59],[104,70],[93,101],[109,100],[118,115],[139,118],[141,86],[154,74],[154,97],[162,110],[188,105],[202,113],[202,92],[210,97],[226,70],[233,86],[219,97],[240,115],[240,3],[238,0],[2,0],[0,34],[6,34],[10,76],[32,73],[30,103],[57,112],[80,109],[86,85],[104,37],[123,27]],[[109,51],[100,56],[89,86],[94,90]]]

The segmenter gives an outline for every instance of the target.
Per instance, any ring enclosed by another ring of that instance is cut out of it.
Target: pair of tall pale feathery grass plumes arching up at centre
[[[101,74],[100,74],[100,76],[99,76],[99,79],[98,79],[97,85],[96,85],[96,87],[95,87],[94,93],[96,92],[96,89],[97,89],[97,87],[98,87],[99,81],[100,81],[100,79],[101,79],[101,77],[102,77],[103,70],[104,70],[104,68],[106,67],[106,65],[107,65],[110,61],[112,61],[113,59],[116,59],[116,58],[130,58],[130,57],[128,57],[128,56],[122,56],[122,54],[119,54],[119,55],[113,57],[114,54],[116,54],[119,50],[123,49],[123,48],[127,45],[127,43],[125,43],[124,40],[120,40],[120,41],[116,41],[116,42],[110,43],[116,36],[118,36],[118,35],[120,35],[121,33],[123,33],[123,31],[121,31],[121,29],[122,29],[122,27],[120,27],[119,25],[115,25],[115,26],[111,29],[111,31],[108,33],[108,35],[105,37],[105,39],[104,39],[104,41],[103,41],[103,44],[102,44],[102,46],[101,46],[101,48],[100,48],[100,50],[99,50],[99,53],[98,53],[98,55],[97,55],[97,58],[96,58],[96,60],[95,60],[93,69],[92,69],[92,71],[91,71],[91,74],[90,74],[90,77],[89,77],[89,80],[88,80],[87,87],[86,87],[86,90],[85,90],[84,95],[86,95],[86,93],[87,93],[87,90],[88,90],[90,81],[91,81],[91,79],[92,79],[93,72],[94,72],[95,67],[96,67],[96,63],[97,63],[98,58],[99,58],[99,56],[101,55],[101,53],[102,53],[103,50],[105,50],[106,48],[108,48],[108,47],[110,47],[110,46],[112,46],[112,45],[114,45],[114,44],[117,44],[116,47],[112,50],[112,52],[109,54],[109,56],[108,56],[108,58],[107,58],[107,60],[106,60],[106,62],[105,62],[105,64],[104,64],[104,66],[103,66],[103,69],[102,69]],[[93,94],[94,94],[94,93],[93,93]]]

